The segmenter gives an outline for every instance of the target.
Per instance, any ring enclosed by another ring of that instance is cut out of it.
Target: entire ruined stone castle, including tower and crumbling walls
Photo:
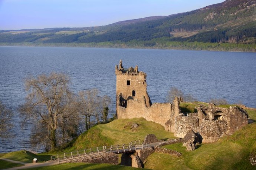
[[[246,111],[239,107],[229,109],[209,106],[196,107],[197,113],[181,113],[181,98],[175,97],[171,103],[151,103],[147,93],[147,74],[138,71],[138,66],[125,70],[122,60],[115,66],[116,74],[116,114],[118,119],[143,117],[154,121],[183,138],[189,130],[198,132],[204,143],[233,134],[248,124]]]

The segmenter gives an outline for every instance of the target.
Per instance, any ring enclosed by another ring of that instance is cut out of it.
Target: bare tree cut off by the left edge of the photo
[[[12,129],[13,112],[6,109],[6,106],[0,101],[0,139],[7,139],[10,135],[10,129]]]

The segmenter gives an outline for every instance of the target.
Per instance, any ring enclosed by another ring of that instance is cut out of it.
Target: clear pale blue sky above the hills
[[[224,0],[0,0],[0,30],[104,26],[200,9]]]

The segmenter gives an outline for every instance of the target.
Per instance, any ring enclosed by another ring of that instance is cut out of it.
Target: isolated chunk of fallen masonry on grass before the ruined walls
[[[195,150],[197,143],[202,143],[202,137],[199,133],[194,133],[193,130],[189,130],[183,138],[183,146],[186,146],[187,150]]]

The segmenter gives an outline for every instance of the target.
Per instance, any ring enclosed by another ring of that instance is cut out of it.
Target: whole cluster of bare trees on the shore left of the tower
[[[92,127],[92,117],[99,123],[108,117],[109,96],[100,96],[98,89],[70,90],[70,79],[63,73],[41,74],[25,81],[28,91],[20,106],[23,125],[32,123],[32,146],[55,150],[82,133],[81,119],[86,130]]]

